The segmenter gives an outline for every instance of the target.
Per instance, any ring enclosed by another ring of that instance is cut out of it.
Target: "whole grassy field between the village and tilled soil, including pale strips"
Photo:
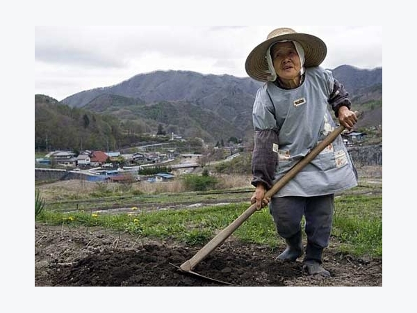
[[[54,198],[47,201],[39,192],[35,198],[35,219],[63,227],[101,226],[136,234],[138,238],[204,245],[249,207],[247,199],[252,191],[246,188],[145,195],[131,189],[124,193],[106,189],[72,199],[70,195],[62,197],[54,193]],[[188,207],[190,203],[211,200],[216,204]],[[221,204],[223,200],[233,203]],[[337,249],[355,256],[382,257],[382,185],[361,182],[336,195],[335,201],[332,243]],[[97,211],[97,203],[108,210]],[[115,203],[125,210],[112,211]],[[256,211],[232,236],[272,248],[282,243],[268,209]]]

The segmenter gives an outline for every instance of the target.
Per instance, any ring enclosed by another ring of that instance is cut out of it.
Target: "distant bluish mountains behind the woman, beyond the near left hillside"
[[[364,112],[358,127],[382,125],[382,67],[341,65],[332,70]],[[252,105],[262,85],[250,77],[156,71],[113,86],[84,90],[61,101],[95,113],[111,114],[143,132],[163,127],[167,134],[216,142],[252,136]]]

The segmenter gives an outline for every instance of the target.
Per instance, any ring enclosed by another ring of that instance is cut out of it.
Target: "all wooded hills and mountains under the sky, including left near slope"
[[[357,129],[382,131],[382,68],[342,65],[332,70],[363,112]],[[250,77],[187,71],[138,74],[115,86],[95,88],[56,101],[35,95],[35,147],[108,148],[144,134],[202,138],[205,143],[252,141],[252,105],[262,83]]]

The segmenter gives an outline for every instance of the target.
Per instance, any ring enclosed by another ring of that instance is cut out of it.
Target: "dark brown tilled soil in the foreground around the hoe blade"
[[[382,286],[382,259],[358,259],[330,244],[331,278],[306,275],[302,258],[277,262],[272,250],[229,237],[195,272],[234,286]],[[179,271],[202,248],[140,239],[97,227],[35,223],[35,286],[226,286]],[[174,264],[174,265],[172,265]]]

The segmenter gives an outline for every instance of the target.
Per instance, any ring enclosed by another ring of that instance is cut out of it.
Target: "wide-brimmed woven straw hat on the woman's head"
[[[247,74],[257,81],[268,81],[268,63],[266,51],[275,42],[291,40],[300,43],[304,49],[304,67],[318,66],[325,59],[327,47],[320,38],[308,33],[297,33],[293,29],[275,29],[269,33],[266,40],[257,45],[247,56],[245,69]]]

